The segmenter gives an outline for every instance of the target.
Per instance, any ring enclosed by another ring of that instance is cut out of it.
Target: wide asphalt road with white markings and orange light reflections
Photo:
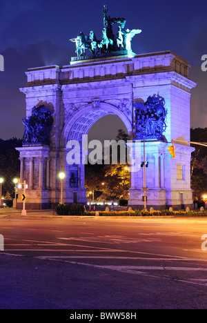
[[[207,219],[0,217],[0,234],[0,309],[207,308]]]

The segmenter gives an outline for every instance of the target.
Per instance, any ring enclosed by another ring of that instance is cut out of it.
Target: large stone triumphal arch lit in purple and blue
[[[121,23],[124,28],[123,19]],[[100,52],[95,52],[95,42],[94,52],[86,55],[80,50],[82,37],[76,39],[77,57],[69,65],[29,68],[26,87],[20,89],[26,95],[26,130],[18,150],[21,183],[28,184],[27,207],[51,208],[59,202],[60,171],[66,173],[64,201],[86,204],[84,164],[68,164],[67,144],[81,143],[106,115],[117,115],[124,122],[133,137],[131,148],[141,141],[141,161],[145,141],[148,206],[191,206],[190,90],[196,84],[189,79],[188,61],[170,51],[135,55],[113,47],[104,52],[104,39]],[[168,146],[176,139],[182,142],[175,141],[176,157],[170,158]],[[143,187],[144,168],[138,167],[131,173],[132,208],[143,208]]]

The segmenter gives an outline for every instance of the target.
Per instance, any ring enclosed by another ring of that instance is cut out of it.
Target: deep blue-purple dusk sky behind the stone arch
[[[26,85],[26,70],[69,65],[70,57],[76,56],[70,38],[81,31],[89,35],[90,30],[101,37],[104,4],[111,17],[126,19],[126,28],[142,30],[132,39],[133,52],[172,50],[189,61],[190,79],[197,83],[191,97],[191,126],[207,126],[207,72],[201,70],[201,57],[207,55],[206,1],[1,0],[0,54],[5,60],[0,72],[1,139],[23,136],[26,101],[19,88]],[[114,131],[112,124],[121,126],[116,117],[107,122]]]

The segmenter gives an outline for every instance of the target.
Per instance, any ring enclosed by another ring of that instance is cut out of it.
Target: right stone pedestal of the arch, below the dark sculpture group
[[[132,146],[140,145],[141,159],[137,170],[131,173],[129,206],[144,208],[144,160],[143,142],[135,142]],[[179,210],[184,206],[193,208],[192,190],[190,189],[190,157],[194,148],[175,144],[176,157],[170,158],[168,143],[162,141],[145,141],[146,152],[146,196],[147,208],[164,210],[172,207]],[[181,170],[181,173],[180,173]]]

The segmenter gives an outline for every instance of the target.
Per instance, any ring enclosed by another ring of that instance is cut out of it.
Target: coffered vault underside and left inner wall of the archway
[[[109,122],[110,124],[108,124]],[[116,122],[117,125],[115,124]],[[112,131],[108,132],[108,126],[113,128]],[[65,130],[68,133],[66,136],[66,147],[68,148],[68,142],[77,142],[78,144],[76,148],[75,146],[70,146],[69,149],[66,149],[66,155],[68,154],[68,151],[71,153],[72,149],[74,149],[73,153],[75,153],[78,148],[80,156],[79,160],[75,161],[74,164],[71,162],[68,163],[68,159],[66,157],[66,173],[67,178],[69,179],[68,183],[66,183],[66,202],[87,204],[87,193],[89,190],[91,192],[92,189],[92,186],[90,189],[88,184],[86,185],[85,182],[85,177],[88,175],[88,172],[91,172],[93,175],[96,173],[95,177],[91,178],[90,181],[95,182],[91,198],[93,200],[96,199],[95,188],[97,187],[97,190],[100,191],[100,186],[103,184],[103,167],[105,165],[102,158],[103,155],[96,156],[97,159],[101,159],[101,161],[94,165],[88,162],[88,155],[90,155],[90,148],[92,148],[92,146],[90,146],[90,142],[99,141],[101,148],[104,149],[103,142],[106,139],[108,141],[115,140],[119,129],[122,129],[124,133],[129,135],[132,130],[132,125],[128,117],[126,117],[123,112],[121,112],[117,107],[110,106],[109,104],[100,103],[99,107],[96,108],[90,104],[81,108],[81,111],[78,111],[70,119]],[[111,137],[109,133],[111,134]],[[103,153],[103,149],[101,149],[101,152],[99,151],[100,154]],[[94,151],[94,154],[96,153],[97,151]],[[90,177],[90,174],[87,178],[88,177]],[[98,177],[99,179],[97,179]],[[97,181],[99,183],[97,183]],[[88,190],[86,189],[86,186]]]

